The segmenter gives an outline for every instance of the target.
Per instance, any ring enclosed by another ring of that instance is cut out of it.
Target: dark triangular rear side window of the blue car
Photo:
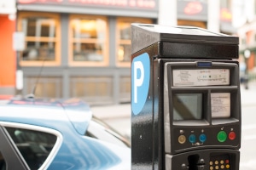
[[[38,169],[42,166],[57,139],[50,133],[16,127],[6,127],[6,129],[31,169]]]

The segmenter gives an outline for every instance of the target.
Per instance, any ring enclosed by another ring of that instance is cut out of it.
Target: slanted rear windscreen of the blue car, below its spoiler
[[[100,121],[96,117],[93,117],[90,121],[89,127],[85,135],[112,144],[130,147],[130,143],[127,139],[114,131],[114,129],[112,127],[109,127],[107,123]]]

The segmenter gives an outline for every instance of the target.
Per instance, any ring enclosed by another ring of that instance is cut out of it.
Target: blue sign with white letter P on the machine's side
[[[137,115],[143,110],[149,88],[150,61],[147,53],[141,54],[131,63],[131,110]]]

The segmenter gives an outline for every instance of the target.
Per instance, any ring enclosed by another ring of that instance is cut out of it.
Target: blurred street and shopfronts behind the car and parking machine
[[[255,169],[256,0],[0,0],[0,99],[80,98],[130,139],[131,23],[239,37],[241,169]]]

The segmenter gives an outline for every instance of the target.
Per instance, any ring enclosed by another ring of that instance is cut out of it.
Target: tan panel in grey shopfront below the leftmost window
[[[26,93],[35,98],[61,98],[61,77],[26,77]]]

